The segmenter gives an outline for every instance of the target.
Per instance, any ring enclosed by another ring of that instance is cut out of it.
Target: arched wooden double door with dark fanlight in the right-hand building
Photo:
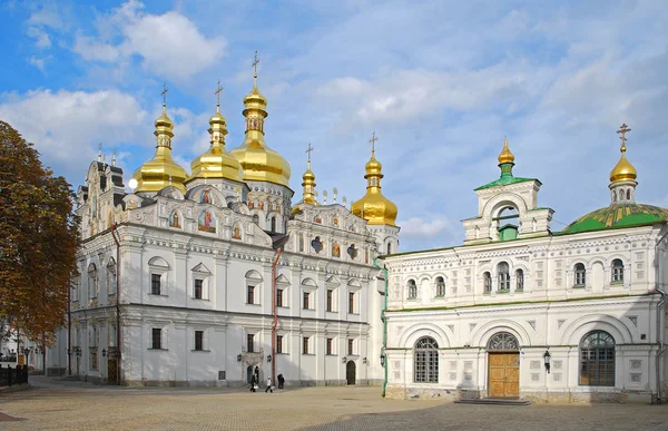
[[[488,396],[520,396],[520,343],[514,335],[499,332],[488,343]]]

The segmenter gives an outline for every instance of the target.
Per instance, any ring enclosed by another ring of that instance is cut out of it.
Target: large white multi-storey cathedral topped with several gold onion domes
[[[347,208],[336,190],[318,200],[310,147],[293,203],[267,114],[255,75],[244,141],[226,148],[218,102],[190,175],[171,156],[166,104],[131,193],[115,160],[90,165],[77,193],[79,276],[50,369],[130,386],[382,384],[375,261],[396,252],[400,231],[382,165],[372,149],[366,193]]]

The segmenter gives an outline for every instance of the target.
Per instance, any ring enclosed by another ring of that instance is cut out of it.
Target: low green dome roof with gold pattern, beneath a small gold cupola
[[[668,222],[668,209],[652,205],[613,204],[592,210],[568,225],[562,233],[628,227],[655,222]]]

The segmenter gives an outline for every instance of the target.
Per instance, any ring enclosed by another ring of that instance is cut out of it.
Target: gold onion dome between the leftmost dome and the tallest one
[[[227,123],[220,114],[220,104],[216,105],[216,114],[209,119],[208,133],[212,146],[190,164],[194,178],[227,178],[242,180],[239,161],[225,149]]]

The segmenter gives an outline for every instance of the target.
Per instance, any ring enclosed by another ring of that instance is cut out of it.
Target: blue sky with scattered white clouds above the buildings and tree
[[[637,202],[668,206],[666,22],[664,0],[0,0],[0,119],[75,188],[100,143],[127,184],[155,151],[166,84],[189,172],[218,80],[227,149],[242,144],[257,50],[295,202],[308,143],[321,196],[363,196],[375,130],[400,251],[458,245],[508,136],[556,232],[609,204],[622,123]]]

